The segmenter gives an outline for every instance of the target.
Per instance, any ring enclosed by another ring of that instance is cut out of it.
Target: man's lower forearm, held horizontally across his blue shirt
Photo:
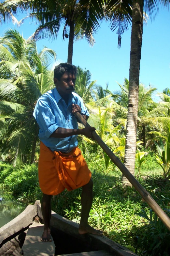
[[[55,130],[55,132],[53,132],[50,137],[66,138],[73,135],[82,134],[82,130],[83,129],[66,129],[66,128],[58,127],[57,130]]]

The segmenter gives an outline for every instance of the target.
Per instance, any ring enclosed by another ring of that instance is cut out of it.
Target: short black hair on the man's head
[[[55,66],[54,69],[54,78],[57,78],[60,81],[60,78],[65,73],[72,73],[75,75],[75,78],[77,76],[77,68],[76,66],[70,64],[70,63],[60,63],[58,66]]]

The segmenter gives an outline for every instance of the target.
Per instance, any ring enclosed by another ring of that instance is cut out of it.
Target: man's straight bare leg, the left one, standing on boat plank
[[[43,242],[51,242],[50,235],[50,218],[51,218],[51,198],[52,196],[43,194],[42,203],[41,203],[41,211],[44,219],[44,232],[41,237],[41,241]]]

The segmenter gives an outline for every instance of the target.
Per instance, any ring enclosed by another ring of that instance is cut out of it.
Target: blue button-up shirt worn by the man
[[[70,152],[77,147],[77,135],[66,138],[54,138],[50,135],[58,127],[78,129],[77,118],[72,113],[72,104],[81,107],[81,114],[89,116],[83,100],[77,93],[69,95],[68,105],[54,88],[44,93],[37,101],[33,116],[39,125],[39,138],[52,151]]]

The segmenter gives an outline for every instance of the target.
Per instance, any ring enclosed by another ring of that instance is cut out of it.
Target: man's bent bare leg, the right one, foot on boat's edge
[[[81,194],[81,219],[78,232],[79,234],[92,233],[95,235],[102,235],[103,232],[100,230],[96,230],[88,225],[88,217],[90,210],[92,208],[93,201],[93,181],[92,179],[88,184],[82,187]]]

